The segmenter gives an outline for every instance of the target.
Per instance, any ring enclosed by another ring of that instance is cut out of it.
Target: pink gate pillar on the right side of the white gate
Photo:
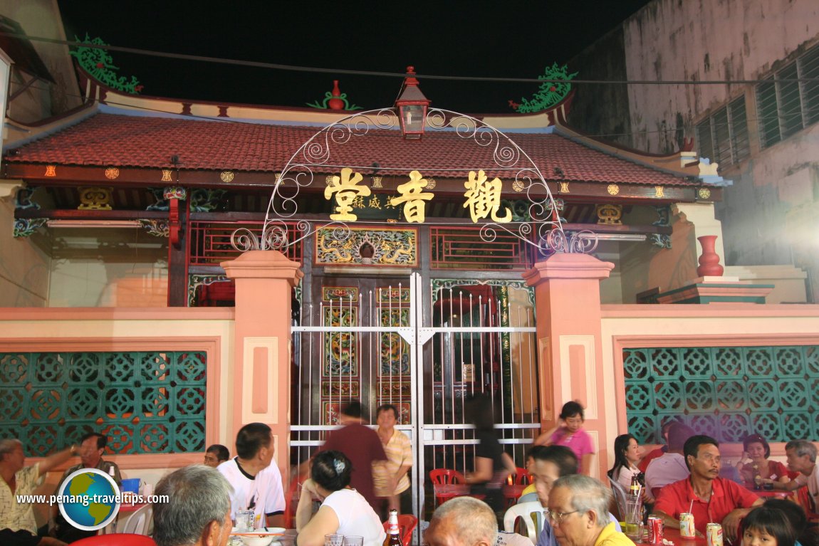
[[[595,449],[609,448],[600,345],[600,280],[614,267],[585,254],[555,254],[523,274],[535,287],[537,349],[540,369],[541,426],[558,422],[560,408],[579,400],[584,429]],[[616,416],[611,416],[616,421]],[[613,441],[613,439],[612,439]],[[593,461],[592,476],[604,476],[605,457]]]

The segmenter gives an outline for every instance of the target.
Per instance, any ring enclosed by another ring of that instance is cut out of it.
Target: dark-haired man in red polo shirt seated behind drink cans
[[[666,526],[680,528],[680,514],[694,514],[696,530],[705,535],[708,523],[722,523],[728,542],[739,544],[737,530],[750,508],[762,499],[733,481],[719,477],[722,458],[719,444],[710,436],[691,436],[682,449],[691,475],[660,490],[654,504],[654,516],[662,517]]]

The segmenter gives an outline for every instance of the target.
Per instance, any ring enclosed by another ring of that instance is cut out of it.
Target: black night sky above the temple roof
[[[188,55],[330,69],[271,70],[112,52],[119,74],[144,95],[215,102],[305,106],[340,80],[364,109],[391,106],[414,65],[432,105],[465,113],[510,113],[537,83],[475,83],[436,76],[536,78],[563,64],[647,0],[563,2],[192,2],[60,0],[66,38]],[[578,77],[593,79],[594,74]]]

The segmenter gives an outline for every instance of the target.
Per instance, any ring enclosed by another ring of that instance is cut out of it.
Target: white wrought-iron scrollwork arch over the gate
[[[528,201],[527,220],[520,222],[500,223],[488,221],[481,223],[480,236],[483,241],[495,240],[497,232],[503,231],[517,237],[527,245],[536,246],[542,255],[554,252],[591,252],[597,246],[595,234],[580,231],[567,234],[558,214],[558,206],[541,170],[536,163],[509,136],[484,121],[473,116],[440,108],[431,109],[426,115],[426,127],[429,132],[451,132],[464,141],[471,140],[474,145],[491,149],[491,165],[475,165],[474,170],[505,172],[514,174],[512,186],[516,192],[525,192]],[[282,249],[313,235],[314,229],[307,220],[298,220],[297,232],[301,235],[294,240],[288,235],[285,220],[292,219],[298,213],[296,197],[302,189],[313,186],[317,174],[337,172],[344,167],[370,171],[373,165],[340,165],[333,163],[333,150],[336,147],[354,145],[355,139],[365,138],[378,130],[394,131],[400,134],[400,125],[395,108],[355,112],[341,120],[319,129],[293,153],[281,174],[276,177],[273,192],[265,214],[265,223],[261,236],[247,229],[233,232],[231,243],[237,250],[270,250]],[[381,172],[409,173],[423,170],[425,165],[408,168],[401,165],[378,165]],[[436,168],[440,170],[440,168]],[[466,169],[453,169],[463,172]],[[470,167],[472,170],[472,167]],[[368,222],[372,223],[372,222]],[[427,223],[428,225],[432,223]],[[339,220],[323,222],[321,228],[333,227],[333,236],[339,241],[350,237],[347,223]]]

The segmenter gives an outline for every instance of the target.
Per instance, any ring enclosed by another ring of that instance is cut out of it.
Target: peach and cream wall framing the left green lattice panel
[[[16,309],[0,308],[0,351],[105,350],[133,351],[196,348],[208,352],[206,444],[224,444],[234,452],[230,429],[237,404],[233,399],[233,309]],[[241,404],[240,404],[241,405]],[[21,439],[25,445],[25,438]],[[62,447],[62,446],[57,446]],[[156,485],[166,472],[201,463],[203,453],[106,455],[124,477]],[[28,463],[36,458],[28,458]],[[50,472],[40,490],[51,494],[75,459]],[[287,469],[284,469],[285,471]],[[38,506],[38,523],[47,521]]]

